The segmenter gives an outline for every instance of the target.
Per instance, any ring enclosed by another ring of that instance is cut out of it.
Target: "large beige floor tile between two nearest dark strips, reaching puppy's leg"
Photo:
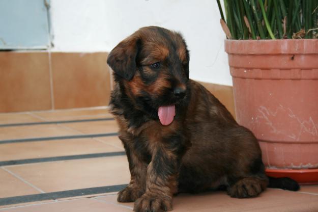
[[[129,183],[130,180],[128,161],[124,155],[6,168],[44,192],[112,186]]]

